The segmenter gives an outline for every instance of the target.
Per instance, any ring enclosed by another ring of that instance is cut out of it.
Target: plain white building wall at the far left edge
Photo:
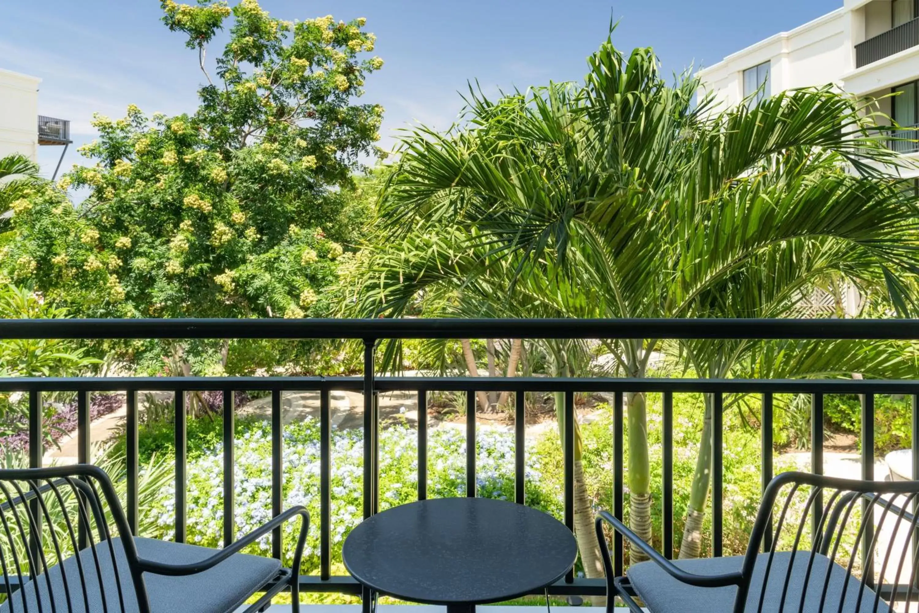
[[[0,69],[0,157],[22,153],[37,161],[40,82],[35,76]]]

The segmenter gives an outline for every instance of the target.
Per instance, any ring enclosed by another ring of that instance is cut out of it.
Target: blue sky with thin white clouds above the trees
[[[188,0],[187,0],[188,1]],[[233,3],[231,3],[233,4]],[[365,100],[386,108],[383,146],[395,129],[421,121],[446,128],[458,92],[478,79],[485,91],[581,79],[584,59],[606,38],[612,16],[618,47],[652,46],[664,71],[710,65],[778,31],[842,5],[842,0],[262,0],[273,16],[367,17],[386,62]],[[74,145],[62,169],[83,158],[94,111],[121,117],[193,111],[203,80],[195,51],[159,21],[157,0],[9,0],[0,20],[0,68],[33,74],[39,112],[70,119]],[[211,54],[221,49],[215,40]],[[42,147],[49,176],[61,150]]]

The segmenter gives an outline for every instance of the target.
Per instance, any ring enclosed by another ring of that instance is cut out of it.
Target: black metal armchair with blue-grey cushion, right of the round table
[[[917,496],[915,481],[784,472],[766,487],[744,555],[675,562],[602,512],[596,536],[607,573],[607,612],[613,596],[635,613],[642,610],[639,599],[650,613],[891,613],[894,599],[905,600],[908,611],[919,595],[912,586],[919,548],[906,566],[917,528],[917,517],[906,509]],[[854,511],[859,501],[862,508]],[[650,560],[615,577],[604,523]],[[878,562],[881,587],[875,588]]]

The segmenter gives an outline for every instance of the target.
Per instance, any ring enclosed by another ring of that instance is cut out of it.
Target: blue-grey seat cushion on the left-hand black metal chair
[[[217,552],[217,550],[196,545],[185,545],[165,540],[134,539],[138,555],[145,560],[171,564],[200,562]],[[74,613],[110,613],[123,610],[135,613],[140,609],[134,584],[131,581],[128,559],[121,539],[112,539],[111,548],[107,542],[96,543],[96,553],[87,548],[80,552],[80,563],[76,556],[66,559],[61,564],[52,566],[48,576],[40,574],[34,581],[23,586],[21,593],[11,596],[0,606],[6,613],[25,611],[23,596],[28,611],[51,611],[51,596],[56,610]],[[115,552],[112,563],[111,551]],[[80,565],[85,579],[84,590],[81,587]],[[96,571],[98,566],[98,572]],[[115,566],[118,567],[119,582],[116,582]],[[147,596],[153,613],[230,613],[242,606],[245,600],[259,591],[269,581],[278,576],[281,563],[273,558],[262,558],[244,553],[237,553],[228,560],[203,573],[182,577],[170,577],[162,574],[143,573],[147,586]],[[100,582],[101,578],[101,582]],[[49,592],[48,583],[51,582]],[[66,583],[67,589],[64,588]],[[121,598],[119,600],[119,583]],[[101,584],[101,586],[100,586]],[[71,607],[68,607],[68,592]],[[103,606],[103,597],[105,606]],[[38,607],[37,598],[42,607]],[[88,601],[89,608],[86,608]]]

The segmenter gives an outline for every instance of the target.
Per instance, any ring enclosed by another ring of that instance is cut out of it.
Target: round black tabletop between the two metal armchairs
[[[539,590],[576,556],[571,530],[554,517],[487,498],[395,506],[354,528],[342,548],[362,585],[450,613]]]

